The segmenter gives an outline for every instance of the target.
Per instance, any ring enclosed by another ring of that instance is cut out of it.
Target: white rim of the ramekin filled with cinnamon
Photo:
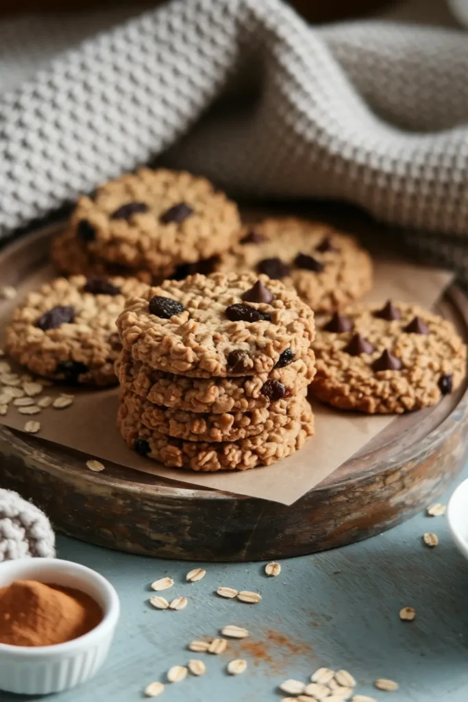
[[[66,641],[63,644],[51,644],[50,646],[13,646],[12,644],[0,643],[0,655],[8,656],[8,654],[13,654],[15,658],[21,656],[21,658],[29,658],[31,661],[39,656],[44,658],[44,656],[73,655],[76,651],[83,650],[83,648],[93,647],[93,645],[97,644],[102,638],[102,635],[107,633],[109,628],[114,628],[116,626],[120,615],[119,595],[117,595],[114,585],[111,585],[98,571],[83,566],[80,563],[74,563],[73,561],[66,561],[60,558],[19,558],[0,563],[0,573],[4,566],[6,568],[10,566],[11,569],[14,569],[15,566],[21,563],[27,567],[28,571],[31,569],[34,570],[34,567],[37,567],[39,570],[44,566],[50,566],[52,572],[52,566],[59,564],[58,570],[66,566],[68,571],[81,574],[81,576],[97,584],[102,592],[105,593],[109,601],[107,611],[103,611],[102,620],[98,626],[95,626],[95,628],[88,631],[88,633],[76,637],[76,639]],[[15,579],[18,580],[20,578]]]

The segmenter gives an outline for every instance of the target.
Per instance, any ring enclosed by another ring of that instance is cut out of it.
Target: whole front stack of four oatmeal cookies
[[[314,313],[254,273],[194,274],[148,288],[117,319],[119,428],[168,466],[246,470],[312,435]]]

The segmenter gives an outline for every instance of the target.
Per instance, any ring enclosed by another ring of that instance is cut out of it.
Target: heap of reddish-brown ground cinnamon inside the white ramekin
[[[51,646],[76,639],[102,620],[102,609],[85,592],[18,580],[0,588],[0,643]]]

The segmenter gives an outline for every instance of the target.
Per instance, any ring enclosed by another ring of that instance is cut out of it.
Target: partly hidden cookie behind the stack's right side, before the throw
[[[269,218],[244,228],[216,270],[255,271],[294,286],[316,312],[338,310],[372,287],[370,256],[353,237],[328,225]]]

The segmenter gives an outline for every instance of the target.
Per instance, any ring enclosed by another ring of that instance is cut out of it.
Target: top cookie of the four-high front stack
[[[117,326],[135,361],[195,378],[269,373],[314,340],[310,307],[255,273],[168,280],[128,300]]]

